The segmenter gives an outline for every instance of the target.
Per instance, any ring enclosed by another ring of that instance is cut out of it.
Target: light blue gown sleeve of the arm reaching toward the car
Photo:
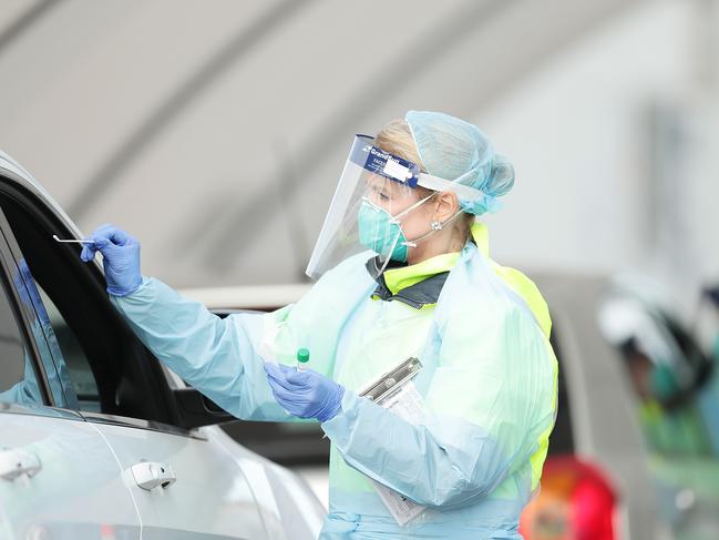
[[[291,305],[220,318],[152,277],[133,294],[110,298],[160,361],[223,409],[246,420],[300,420],[277,404],[263,368],[265,360],[291,361],[264,350]]]

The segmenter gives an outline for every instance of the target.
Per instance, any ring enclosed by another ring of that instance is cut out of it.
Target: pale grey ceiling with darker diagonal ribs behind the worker
[[[174,285],[301,279],[351,135],[475,119],[626,0],[6,0],[0,146]]]

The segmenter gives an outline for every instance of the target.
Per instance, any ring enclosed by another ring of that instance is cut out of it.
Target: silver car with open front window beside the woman
[[[317,538],[307,485],[228,437],[55,234],[80,237],[0,154],[0,538]]]

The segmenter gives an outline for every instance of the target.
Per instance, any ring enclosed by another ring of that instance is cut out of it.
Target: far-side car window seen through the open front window
[[[37,286],[65,360],[72,389],[78,396],[79,407],[81,410],[100,412],[100,391],[97,390],[97,383],[90,367],[90,360],[88,360],[88,356],[82,349],[75,333],[68,325],[50,296],[48,296],[39,284]]]

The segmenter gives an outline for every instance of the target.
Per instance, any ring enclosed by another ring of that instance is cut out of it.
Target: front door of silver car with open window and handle
[[[65,223],[37,197],[0,190],[0,228],[27,261],[66,359],[63,391],[111,446],[137,505],[143,539],[266,538],[237,461],[202,430],[178,427],[176,396],[157,360],[109,302],[97,265],[58,244]]]

